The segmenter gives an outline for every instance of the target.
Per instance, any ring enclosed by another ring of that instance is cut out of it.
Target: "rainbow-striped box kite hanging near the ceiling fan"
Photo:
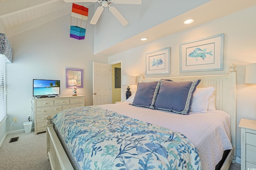
[[[76,18],[76,25],[72,25],[72,17]],[[81,25],[86,21],[85,27],[88,20],[88,8],[73,4],[71,12],[71,26],[70,26],[70,37],[75,39],[84,39],[86,28],[82,28]],[[78,26],[78,21],[80,25]]]

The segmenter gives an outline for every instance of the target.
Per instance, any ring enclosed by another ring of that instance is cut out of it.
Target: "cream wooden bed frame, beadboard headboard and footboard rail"
[[[176,82],[201,79],[198,88],[213,86],[216,89],[216,109],[223,110],[231,116],[231,143],[233,149],[230,150],[221,170],[228,170],[230,164],[236,159],[236,64],[230,65],[229,74],[211,75],[211,76],[189,76],[189,77],[169,77]],[[140,82],[151,82],[161,78],[142,78]],[[72,170],[66,152],[64,151],[50,121],[52,117],[47,116],[46,136],[47,136],[47,154],[50,160],[52,170]]]

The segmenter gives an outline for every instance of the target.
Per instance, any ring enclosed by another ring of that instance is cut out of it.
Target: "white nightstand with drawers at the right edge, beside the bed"
[[[241,119],[241,170],[256,168],[256,121]]]

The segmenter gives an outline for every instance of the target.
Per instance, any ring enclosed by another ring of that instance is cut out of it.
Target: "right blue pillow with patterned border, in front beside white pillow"
[[[172,111],[186,115],[190,112],[191,101],[196,86],[201,79],[186,82],[160,82],[155,109]]]

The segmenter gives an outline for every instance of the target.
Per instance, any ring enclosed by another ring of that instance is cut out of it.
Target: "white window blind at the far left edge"
[[[6,117],[6,59],[0,55],[0,122]]]

